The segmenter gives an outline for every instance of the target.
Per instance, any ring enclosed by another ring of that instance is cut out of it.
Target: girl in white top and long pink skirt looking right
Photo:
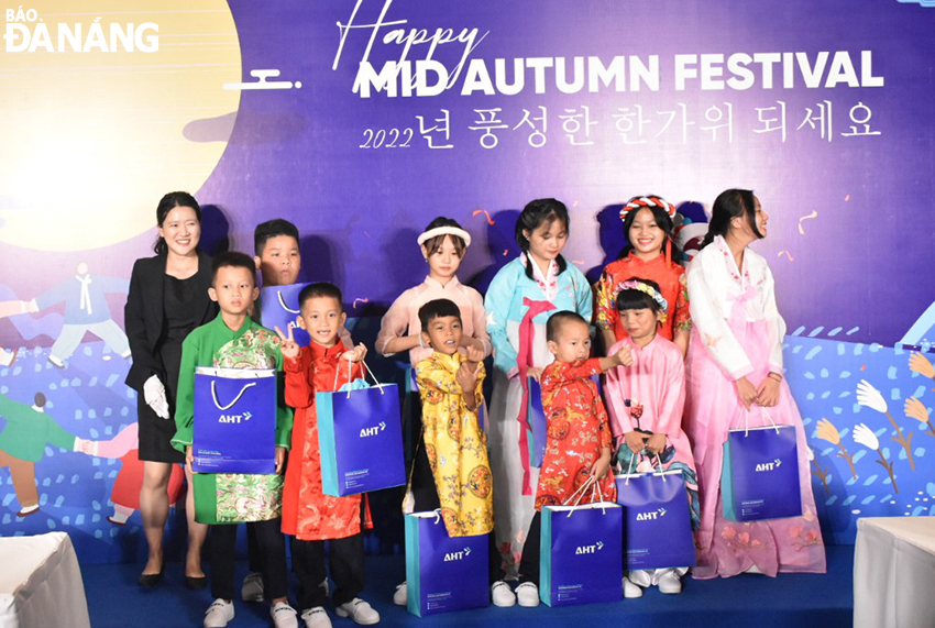
[[[749,190],[714,201],[702,250],[689,266],[685,429],[694,444],[701,493],[696,579],[744,572],[825,572],[825,550],[809,476],[799,408],[783,378],[785,322],[776,306],[772,273],[748,245],[767,234],[769,216]],[[728,430],[768,420],[795,428],[802,515],[737,522],[723,517],[721,471]]]

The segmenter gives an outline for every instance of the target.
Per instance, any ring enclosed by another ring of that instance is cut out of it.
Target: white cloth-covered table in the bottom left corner
[[[0,538],[0,628],[90,625],[68,535]]]

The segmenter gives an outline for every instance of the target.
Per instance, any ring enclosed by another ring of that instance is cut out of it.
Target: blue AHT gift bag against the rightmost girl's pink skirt
[[[724,518],[732,521],[802,515],[793,426],[741,428],[727,433],[721,502]]]

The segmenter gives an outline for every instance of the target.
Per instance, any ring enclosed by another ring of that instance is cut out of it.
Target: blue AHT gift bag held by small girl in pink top
[[[626,447],[626,445],[625,445]],[[627,569],[695,566],[695,543],[681,471],[617,475]]]

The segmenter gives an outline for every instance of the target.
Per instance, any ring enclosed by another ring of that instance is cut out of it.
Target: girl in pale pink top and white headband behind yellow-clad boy
[[[418,238],[422,256],[428,264],[426,279],[409,288],[393,301],[381,322],[376,337],[376,351],[389,356],[402,351],[409,352],[413,366],[432,354],[430,346],[420,343],[419,308],[436,299],[450,299],[461,310],[463,322],[462,343],[491,354],[491,339],[486,329],[484,298],[470,286],[458,280],[458,268],[471,245],[471,234],[461,229],[455,220],[438,217]]]

